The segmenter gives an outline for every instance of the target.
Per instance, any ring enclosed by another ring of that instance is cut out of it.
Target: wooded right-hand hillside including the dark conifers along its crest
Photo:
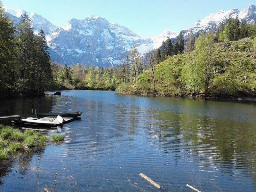
[[[252,69],[255,67],[251,59],[245,59],[245,56],[241,56],[240,62],[244,61],[243,66],[246,65],[250,70],[238,70],[234,65],[227,67],[230,60],[237,62],[236,59],[231,58],[230,55],[230,58],[226,58],[224,61],[220,60],[220,53],[216,50],[218,46],[225,48],[232,46],[232,52],[235,52],[238,47],[239,51],[248,50],[250,52],[252,51],[252,47],[250,47],[252,42],[249,40],[244,40],[243,44],[229,42],[250,37],[250,39],[254,38],[256,45],[255,36],[256,26],[250,22],[240,22],[238,17],[227,19],[220,24],[215,32],[201,31],[197,38],[193,34],[188,35],[186,44],[183,34],[180,32],[175,43],[168,38],[161,47],[149,53],[145,65],[147,67],[144,68],[141,76],[137,76],[137,80],[134,76],[133,81],[129,84],[121,84],[117,90],[152,95],[165,95],[165,93],[166,95],[186,95],[189,93],[195,96],[196,94],[204,94],[205,97],[210,96],[213,92],[214,95],[223,95],[225,92],[223,89],[227,90],[226,96],[234,96],[238,92],[239,94],[241,92],[248,94],[252,92],[250,87],[253,87],[253,83],[251,85],[241,84],[241,82],[248,83],[248,81],[240,77],[242,76],[241,73],[253,72]],[[214,45],[221,42],[224,44]],[[245,50],[245,48],[248,49]],[[131,55],[134,54],[131,52]],[[247,54],[246,57],[249,55]],[[161,62],[162,64],[160,64]],[[177,63],[180,64],[177,65]],[[225,75],[222,75],[223,73]],[[247,76],[242,77],[247,78]],[[255,82],[254,84],[256,84]],[[212,93],[210,93],[210,88]],[[254,88],[252,89],[254,90]]]

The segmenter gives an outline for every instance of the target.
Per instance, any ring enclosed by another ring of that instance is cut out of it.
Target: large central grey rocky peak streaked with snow
[[[151,39],[142,39],[124,26],[92,15],[84,20],[71,19],[47,36],[47,41],[67,64],[83,62],[106,67],[118,64],[120,56],[127,55],[132,45],[141,54],[153,48]]]

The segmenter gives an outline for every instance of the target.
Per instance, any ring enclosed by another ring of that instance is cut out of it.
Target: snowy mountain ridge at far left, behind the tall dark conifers
[[[16,23],[20,22],[20,16],[25,12],[24,10],[12,9],[8,7],[4,7],[5,12],[7,12],[8,16],[11,17]],[[52,31],[54,31],[58,26],[53,25],[50,21],[42,17],[41,15],[37,15],[36,13],[26,12],[27,15],[31,18],[34,27],[34,33],[38,34],[40,29],[44,30],[46,35],[50,35]]]

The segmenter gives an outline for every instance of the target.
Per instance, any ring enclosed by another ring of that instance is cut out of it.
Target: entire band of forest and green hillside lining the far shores
[[[64,89],[116,90],[154,96],[255,96],[256,27],[229,18],[198,36],[175,40],[141,55],[135,46],[117,66],[51,62],[43,30],[26,13],[18,25],[0,6],[0,97],[44,95]]]

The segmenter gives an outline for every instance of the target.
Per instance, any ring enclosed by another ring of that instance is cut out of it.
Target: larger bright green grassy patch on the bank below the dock
[[[0,124],[0,160],[8,159],[13,152],[47,144],[47,137],[40,132],[21,132],[11,126]]]

